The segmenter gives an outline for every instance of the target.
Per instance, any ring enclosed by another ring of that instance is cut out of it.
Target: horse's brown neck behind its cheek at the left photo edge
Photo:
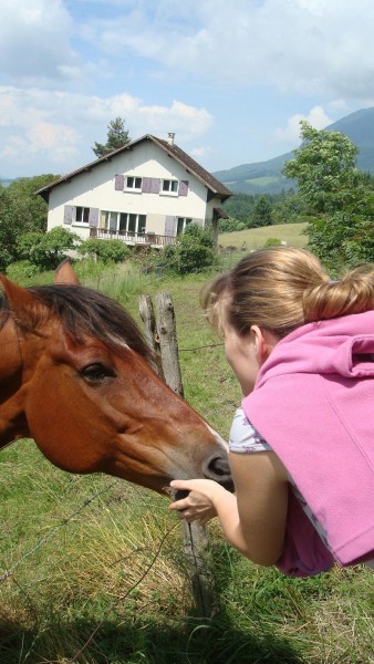
[[[28,435],[23,414],[22,352],[11,319],[0,330],[0,448]]]

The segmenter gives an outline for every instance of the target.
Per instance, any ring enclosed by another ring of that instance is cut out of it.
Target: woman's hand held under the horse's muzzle
[[[189,491],[188,496],[172,502],[170,510],[178,510],[179,518],[188,523],[200,521],[204,526],[217,517],[215,500],[226,489],[211,479],[175,479],[170,487],[176,490]]]

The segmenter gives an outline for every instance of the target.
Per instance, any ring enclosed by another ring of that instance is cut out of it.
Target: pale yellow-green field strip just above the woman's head
[[[263,247],[268,238],[277,238],[291,247],[305,247],[308,238],[302,235],[305,226],[307,224],[280,224],[262,228],[248,228],[236,232],[222,232],[218,236],[218,243],[221,247],[240,249],[246,242],[247,249],[250,250]]]

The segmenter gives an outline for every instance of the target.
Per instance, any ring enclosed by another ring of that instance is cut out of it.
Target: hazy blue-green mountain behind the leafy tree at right
[[[351,113],[326,129],[349,136],[360,149],[359,168],[374,173],[374,107]],[[267,162],[242,164],[212,175],[235,194],[279,194],[294,186],[281,174],[284,162],[293,157],[293,152],[290,152]]]

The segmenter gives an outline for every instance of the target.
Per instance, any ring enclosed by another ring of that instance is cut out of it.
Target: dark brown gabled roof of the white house
[[[95,159],[94,162],[91,162],[90,164],[86,164],[85,166],[82,166],[81,168],[77,168],[76,170],[73,170],[72,173],[67,173],[66,175],[63,175],[59,179],[46,185],[46,187],[42,187],[41,189],[38,189],[38,191],[35,191],[35,194],[40,194],[40,196],[42,196],[45,200],[48,200],[50,191],[52,189],[54,189],[54,187],[58,187],[64,183],[70,183],[73,179],[73,177],[75,177],[76,175],[80,175],[81,173],[90,172],[93,168],[95,168],[96,166],[98,166],[100,164],[103,164],[104,162],[111,162],[117,155],[121,155],[122,153],[124,153],[126,151],[134,149],[134,147],[136,145],[144,143],[145,141],[152,141],[155,145],[158,145],[158,147],[160,147],[164,152],[166,152],[166,154],[168,154],[176,162],[181,164],[186,168],[187,173],[191,173],[193,175],[195,175],[195,177],[198,180],[200,180],[200,183],[202,183],[202,185],[205,185],[208,189],[210,189],[210,191],[212,194],[217,194],[222,200],[226,200],[226,198],[229,198],[229,196],[232,196],[232,191],[230,191],[230,189],[228,189],[222,183],[220,183],[210,173],[208,173],[208,170],[202,168],[202,166],[200,166],[197,162],[195,162],[195,159],[193,159],[189,155],[187,155],[187,153],[185,153],[180,147],[178,147],[177,145],[174,145],[174,144],[172,145],[167,141],[157,138],[156,136],[153,136],[152,134],[145,134],[141,138],[137,138],[136,141],[132,141],[127,145],[124,145],[123,147],[118,147],[117,149],[114,149],[113,152],[108,153],[104,157],[100,157],[98,159]]]

